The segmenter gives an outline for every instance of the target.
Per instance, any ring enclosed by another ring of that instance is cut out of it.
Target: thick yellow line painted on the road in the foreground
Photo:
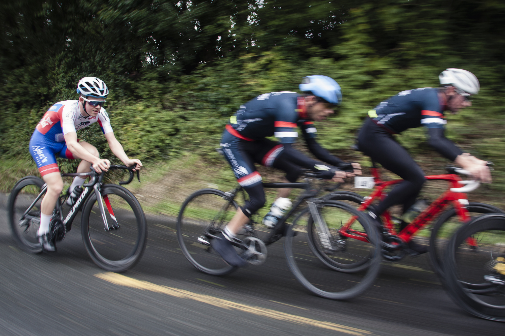
[[[185,291],[185,290],[181,290],[181,289],[177,289],[177,288],[173,288],[173,287],[156,285],[153,283],[149,283],[147,281],[137,280],[132,277],[128,277],[128,276],[118,274],[118,273],[113,273],[113,272],[98,273],[98,274],[95,274],[95,276],[100,279],[103,279],[105,281],[108,281],[110,283],[113,283],[115,285],[119,285],[119,286],[137,288],[137,289],[141,289],[144,291],[151,291],[151,292],[156,292],[156,293],[163,293],[163,294],[167,294],[167,295],[174,296],[174,297],[181,298],[181,299],[191,299],[191,300],[207,303],[209,305],[224,308],[224,309],[236,309],[236,310],[240,310],[240,311],[243,311],[246,313],[255,314],[258,316],[269,317],[269,318],[273,318],[276,320],[287,321],[287,322],[292,322],[292,323],[297,323],[297,324],[312,325],[312,326],[317,326],[319,328],[340,331],[340,332],[344,332],[344,333],[348,333],[348,334],[356,335],[356,336],[365,336],[365,334],[367,334],[367,335],[372,334],[372,332],[367,331],[367,330],[348,327],[348,326],[341,325],[341,324],[336,324],[336,323],[331,323],[331,322],[326,322],[326,321],[318,321],[318,320],[314,320],[314,319],[303,317],[303,316],[297,316],[297,315],[283,313],[283,312],[273,310],[273,309],[267,309],[267,308],[262,308],[262,307],[258,307],[258,306],[249,306],[249,305],[245,305],[245,304],[241,304],[241,303],[237,303],[237,302],[233,302],[233,301],[228,301],[228,300],[216,298],[216,297],[213,297],[210,295],[198,294],[198,293],[193,293],[193,292],[189,292],[189,291]]]

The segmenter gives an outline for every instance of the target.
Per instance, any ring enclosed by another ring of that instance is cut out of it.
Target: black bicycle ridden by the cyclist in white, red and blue
[[[133,180],[134,169],[125,165],[111,165],[110,169],[125,169]],[[50,237],[62,241],[72,228],[72,221],[81,213],[81,235],[91,259],[108,271],[121,272],[139,261],[145,249],[147,225],[145,215],[135,196],[126,188],[103,184],[105,172],[68,173],[62,176],[90,177],[83,191],[68,213],[63,205],[68,197],[62,194],[56,203],[49,224]],[[137,179],[140,182],[137,171]],[[46,184],[36,176],[19,180],[9,197],[9,221],[19,246],[31,253],[42,252],[37,231],[40,225],[40,204],[47,190]],[[108,219],[108,216],[110,219]]]

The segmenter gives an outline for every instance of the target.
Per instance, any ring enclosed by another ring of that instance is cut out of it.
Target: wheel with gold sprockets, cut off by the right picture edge
[[[469,245],[468,239],[474,242]],[[505,214],[486,214],[464,225],[447,245],[443,268],[445,287],[458,306],[505,322]],[[475,291],[469,285],[486,288]]]

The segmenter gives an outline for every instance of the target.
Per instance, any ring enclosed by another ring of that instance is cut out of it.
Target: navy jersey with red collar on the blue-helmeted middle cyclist
[[[296,142],[297,126],[305,139],[315,137],[316,128],[306,116],[303,97],[281,91],[261,94],[241,105],[226,129],[243,140],[275,136],[284,144]]]

